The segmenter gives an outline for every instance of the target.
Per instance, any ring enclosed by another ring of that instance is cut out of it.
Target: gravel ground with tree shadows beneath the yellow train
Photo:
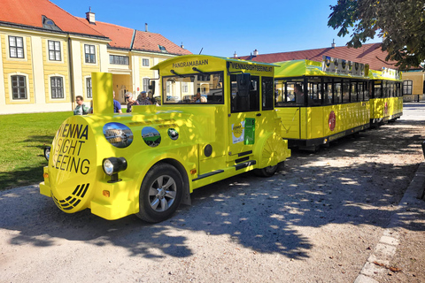
[[[0,282],[423,282],[425,202],[405,192],[424,110],[406,103],[396,123],[294,151],[271,178],[199,188],[157,225],[66,214],[38,186],[0,192]]]

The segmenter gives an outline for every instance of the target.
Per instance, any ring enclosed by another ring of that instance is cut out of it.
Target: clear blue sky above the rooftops
[[[295,50],[311,50],[344,46],[348,36],[338,37],[328,27],[329,5],[337,0],[298,1],[112,1],[112,0],[50,0],[73,16],[85,18],[86,12],[96,20],[152,33],[167,39],[194,54],[221,57]],[[370,42],[380,42],[375,38]]]

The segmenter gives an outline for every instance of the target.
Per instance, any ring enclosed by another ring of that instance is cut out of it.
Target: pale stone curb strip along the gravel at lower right
[[[425,162],[419,164],[418,170],[414,174],[413,180],[407,187],[405,195],[398,203],[397,212],[391,217],[390,223],[383,231],[383,236],[376,244],[374,252],[367,258],[359,276],[354,283],[379,283],[372,277],[383,271],[387,271],[392,256],[396,254],[398,247],[399,233],[398,228],[404,225],[404,222],[410,222],[416,218],[416,214],[409,208],[414,203],[423,202],[425,185]],[[376,263],[376,264],[375,264]]]

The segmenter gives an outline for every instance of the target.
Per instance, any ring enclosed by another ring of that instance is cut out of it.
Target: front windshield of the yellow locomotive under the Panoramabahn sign
[[[223,72],[163,77],[162,96],[164,104],[222,104]]]

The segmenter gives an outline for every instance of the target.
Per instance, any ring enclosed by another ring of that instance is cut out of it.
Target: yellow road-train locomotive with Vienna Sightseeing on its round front
[[[274,65],[189,55],[152,69],[162,105],[125,114],[112,112],[112,74],[92,73],[94,113],[66,119],[45,150],[40,192],[60,210],[155,223],[198,187],[251,170],[271,176],[290,157]]]

